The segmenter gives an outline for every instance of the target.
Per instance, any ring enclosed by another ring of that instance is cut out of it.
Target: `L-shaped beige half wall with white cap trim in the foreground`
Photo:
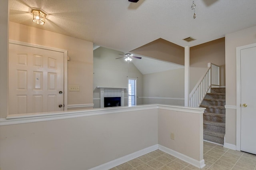
[[[203,112],[202,108],[143,105],[1,119],[1,168],[84,170],[124,156],[131,159],[127,155],[158,143],[196,160],[199,167]],[[167,139],[170,132],[176,133],[174,143]]]

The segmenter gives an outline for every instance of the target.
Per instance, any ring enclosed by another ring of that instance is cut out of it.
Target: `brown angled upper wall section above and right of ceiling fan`
[[[184,47],[159,38],[132,51],[138,55],[184,65]]]

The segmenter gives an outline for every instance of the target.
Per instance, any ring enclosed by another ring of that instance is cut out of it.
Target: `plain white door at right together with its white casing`
[[[236,149],[256,154],[256,43],[237,47],[236,63]]]

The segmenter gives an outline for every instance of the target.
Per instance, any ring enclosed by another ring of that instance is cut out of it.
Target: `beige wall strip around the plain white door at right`
[[[226,35],[226,105],[236,106],[236,47],[256,43],[256,26]],[[226,143],[236,144],[236,110],[226,109]]]

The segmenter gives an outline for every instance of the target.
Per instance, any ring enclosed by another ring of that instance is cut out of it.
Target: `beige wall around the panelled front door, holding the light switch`
[[[10,22],[9,39],[68,50],[68,86],[80,86],[80,91],[68,91],[68,105],[93,103],[92,42],[14,22]]]

